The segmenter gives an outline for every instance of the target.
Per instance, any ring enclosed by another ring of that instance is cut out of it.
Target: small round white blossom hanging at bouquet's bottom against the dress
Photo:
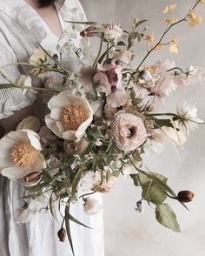
[[[84,199],[83,210],[87,215],[95,215],[102,210],[102,203],[95,198]]]

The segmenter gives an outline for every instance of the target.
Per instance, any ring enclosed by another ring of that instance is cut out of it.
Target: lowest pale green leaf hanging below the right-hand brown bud
[[[175,212],[168,204],[156,205],[155,219],[162,225],[174,232],[181,232],[177,222]]]

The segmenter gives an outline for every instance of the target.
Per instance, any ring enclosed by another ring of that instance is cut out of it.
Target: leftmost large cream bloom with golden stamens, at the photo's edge
[[[39,136],[27,129],[10,131],[0,140],[0,172],[9,179],[21,179],[46,167]]]

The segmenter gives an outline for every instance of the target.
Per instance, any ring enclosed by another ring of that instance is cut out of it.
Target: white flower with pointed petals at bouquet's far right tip
[[[203,121],[200,118],[197,118],[197,109],[194,104],[188,104],[185,100],[182,100],[182,103],[177,104],[176,113],[182,119],[178,121],[178,128],[182,130],[195,131],[198,127],[198,124],[202,124]]]

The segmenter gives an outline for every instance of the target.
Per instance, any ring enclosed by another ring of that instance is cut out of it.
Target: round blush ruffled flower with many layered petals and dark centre
[[[129,152],[144,143],[147,131],[142,118],[132,113],[119,111],[113,120],[111,135],[119,149]]]

